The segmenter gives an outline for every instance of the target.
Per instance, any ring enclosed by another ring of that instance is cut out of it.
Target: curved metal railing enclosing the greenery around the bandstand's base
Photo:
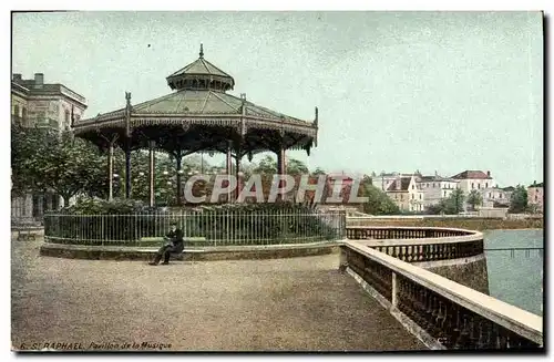
[[[154,246],[177,223],[192,246],[331,241],[345,237],[346,213],[302,209],[181,211],[132,215],[44,216],[44,240],[53,244]]]

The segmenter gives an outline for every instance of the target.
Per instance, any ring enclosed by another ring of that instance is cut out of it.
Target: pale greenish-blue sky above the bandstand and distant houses
[[[171,93],[203,43],[229,93],[309,122],[318,106],[318,146],[287,153],[311,169],[529,185],[543,180],[542,27],[540,12],[16,13],[12,73],[65,84],[92,117],[126,91]]]

